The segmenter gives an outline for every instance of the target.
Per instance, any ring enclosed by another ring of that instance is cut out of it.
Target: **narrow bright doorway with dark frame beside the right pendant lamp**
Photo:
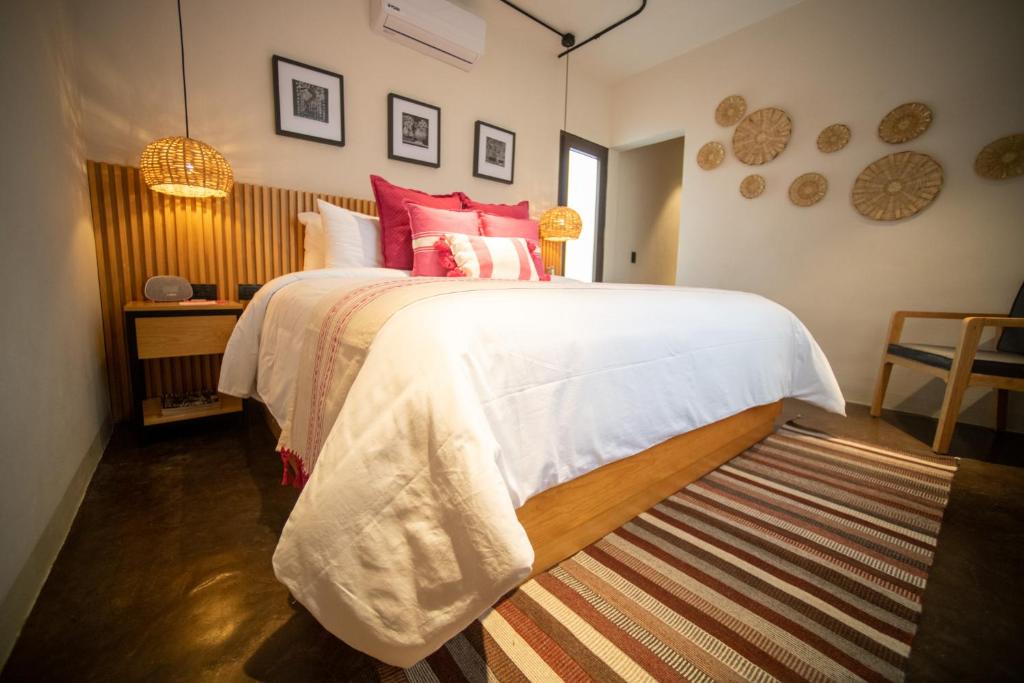
[[[608,184],[608,148],[564,130],[558,165],[558,204],[583,219],[579,240],[565,243],[562,274],[599,283],[604,261],[604,204]]]

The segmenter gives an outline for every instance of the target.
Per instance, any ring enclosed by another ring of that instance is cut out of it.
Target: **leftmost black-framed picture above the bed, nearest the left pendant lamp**
[[[340,74],[273,55],[279,135],[345,145],[345,80]]]

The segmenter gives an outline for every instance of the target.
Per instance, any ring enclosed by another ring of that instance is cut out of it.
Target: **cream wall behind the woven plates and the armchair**
[[[612,144],[685,133],[678,282],[750,290],[797,313],[821,343],[849,400],[868,402],[890,311],[897,308],[1007,311],[1024,279],[1024,178],[988,181],[973,170],[987,142],[1024,130],[1024,3],[1016,0],[807,0],[763,23],[665,62],[612,89]],[[719,127],[718,101],[742,94],[750,111],[776,105],[793,117],[786,151],[762,167],[729,155],[718,169],[696,165]],[[931,129],[905,145],[879,140],[882,117],[905,101],[927,102]],[[823,155],[826,125],[845,122],[850,145]],[[862,218],[850,205],[856,175],[898,150],[934,156],[945,169],[937,201],[894,223]],[[819,171],[824,200],[790,204],[796,176]],[[744,200],[739,181],[765,175]],[[937,330],[936,330],[937,329]],[[911,323],[907,331],[952,343],[955,325]],[[941,383],[896,370],[887,405],[934,414]],[[965,419],[991,425],[990,393]],[[1011,397],[1017,428],[1021,395]]]

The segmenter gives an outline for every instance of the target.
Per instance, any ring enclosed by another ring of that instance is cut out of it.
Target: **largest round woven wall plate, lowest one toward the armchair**
[[[916,152],[897,152],[871,163],[853,182],[850,199],[871,220],[898,220],[931,204],[942,189],[942,166]]]

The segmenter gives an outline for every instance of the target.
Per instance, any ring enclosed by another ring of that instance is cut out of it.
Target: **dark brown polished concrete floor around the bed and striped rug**
[[[798,417],[799,416],[799,417]],[[927,452],[935,422],[799,401],[784,419]],[[371,663],[289,601],[270,556],[297,493],[279,485],[255,411],[115,434],[8,659],[18,681],[318,681]],[[908,678],[1019,680],[1024,672],[1024,435],[961,427],[963,460],[925,594]],[[987,461],[987,462],[986,462]]]

